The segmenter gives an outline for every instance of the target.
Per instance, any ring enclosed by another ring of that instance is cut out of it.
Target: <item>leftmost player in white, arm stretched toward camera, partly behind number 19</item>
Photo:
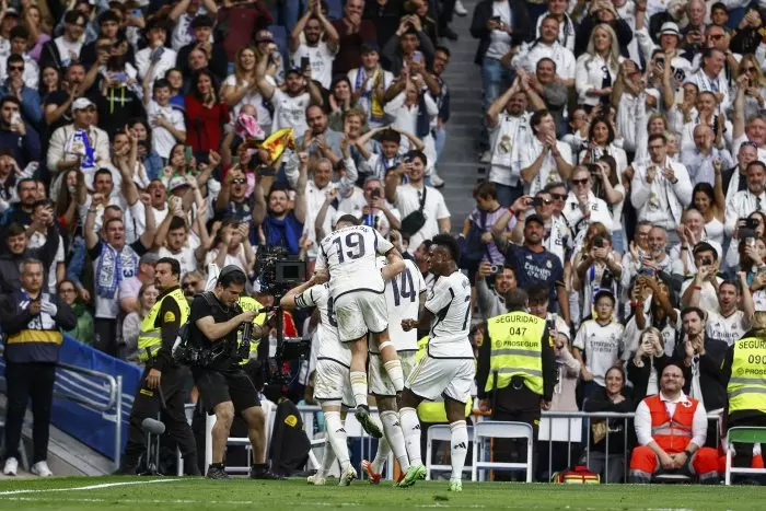
[[[346,413],[353,407],[353,394],[349,380],[351,365],[351,349],[340,342],[338,325],[333,310],[333,297],[329,284],[316,284],[314,279],[291,289],[282,297],[279,305],[283,310],[307,309],[316,306],[320,310],[318,349],[316,352],[316,379],[314,381],[314,398],[322,405],[325,417],[325,431],[329,445],[325,446],[322,466],[316,474],[309,476],[309,483],[322,486],[326,475],[337,458],[340,463],[339,486],[348,486],[357,478],[348,454],[348,442],[344,421]]]

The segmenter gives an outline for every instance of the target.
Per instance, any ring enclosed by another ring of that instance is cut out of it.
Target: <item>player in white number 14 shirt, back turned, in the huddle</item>
[[[378,258],[379,267],[385,266],[385,258]],[[385,282],[385,299],[388,305],[388,335],[396,348],[396,353],[402,363],[404,378],[409,376],[415,367],[415,355],[418,351],[418,333],[413,329],[404,332],[402,320],[419,317],[420,311],[426,304],[426,281],[422,274],[410,259],[405,259],[405,269],[396,277]],[[362,471],[367,472],[370,483],[380,483],[383,466],[388,453],[394,451],[394,456],[399,462],[402,473],[409,468],[407,448],[404,443],[404,434],[399,426],[399,414],[396,405],[396,391],[391,379],[383,368],[378,348],[370,346],[370,364],[368,368],[370,380],[370,393],[375,396],[378,410],[383,422],[383,435],[378,441],[378,453],[372,462],[362,460]]]

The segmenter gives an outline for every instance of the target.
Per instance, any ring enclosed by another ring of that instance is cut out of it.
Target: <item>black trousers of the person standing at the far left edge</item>
[[[8,384],[8,410],[5,414],[5,457],[19,458],[21,428],[24,423],[26,405],[32,399],[32,463],[48,457],[48,435],[50,408],[54,402],[56,365],[53,363],[5,363]]]

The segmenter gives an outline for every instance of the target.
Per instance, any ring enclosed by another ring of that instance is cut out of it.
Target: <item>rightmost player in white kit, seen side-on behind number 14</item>
[[[450,234],[431,240],[430,268],[437,276],[419,320],[403,320],[405,332],[430,325],[428,349],[407,378],[402,393],[399,418],[410,467],[399,486],[413,486],[426,477],[420,457],[420,421],[416,408],[423,399],[444,397],[450,421],[452,476],[450,491],[462,491],[463,467],[468,445],[465,404],[471,397],[476,369],[468,340],[471,329],[471,282],[457,269],[460,247]]]

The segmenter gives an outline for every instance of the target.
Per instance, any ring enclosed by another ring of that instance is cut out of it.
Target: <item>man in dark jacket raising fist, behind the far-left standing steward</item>
[[[28,243],[26,229],[20,223],[11,223],[0,232],[0,239],[5,241],[5,246],[0,253],[0,293],[2,294],[10,294],[21,288],[19,264],[26,258],[43,262],[43,272],[47,282],[48,268],[50,268],[56,258],[56,251],[58,251],[58,228],[49,209],[40,211],[33,223],[39,224],[36,230],[46,232],[45,244],[38,248],[26,247]],[[5,325],[2,325],[3,330],[4,327]]]

